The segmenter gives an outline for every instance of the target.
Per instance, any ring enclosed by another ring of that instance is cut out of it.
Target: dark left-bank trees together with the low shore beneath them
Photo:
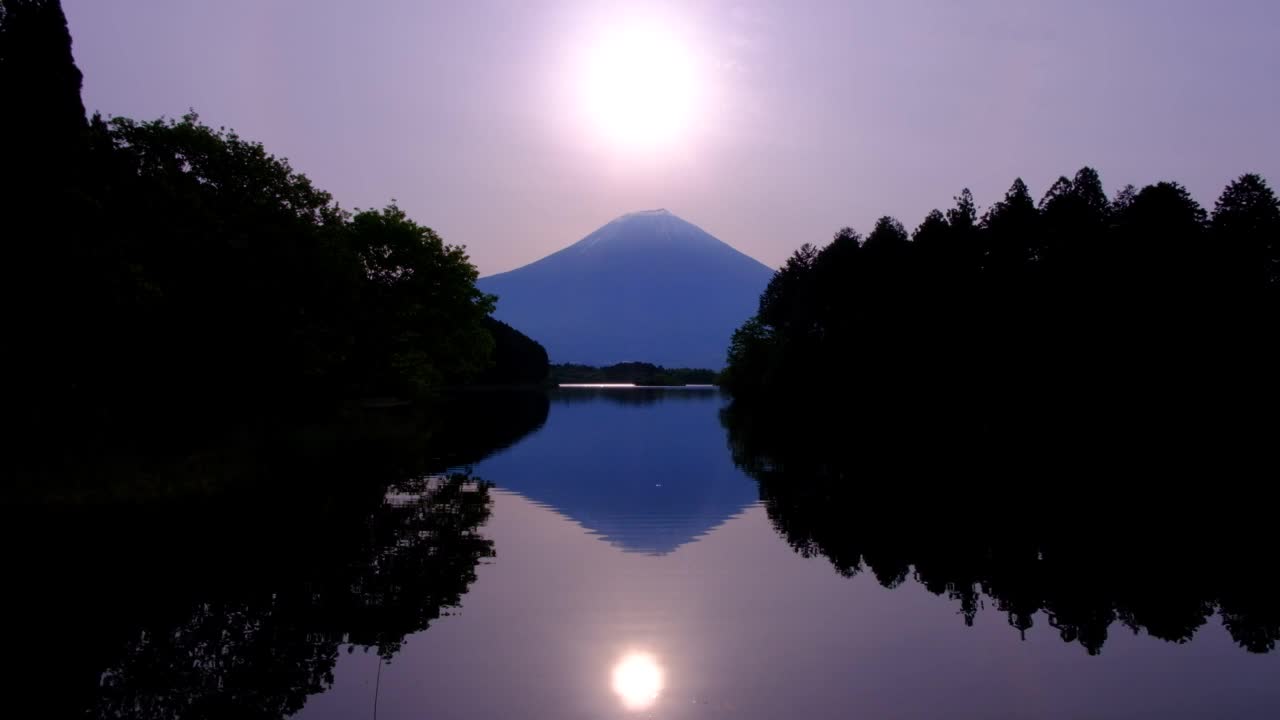
[[[6,502],[180,503],[385,443],[447,456],[471,442],[451,428],[484,434],[451,391],[545,382],[466,250],[394,200],[347,210],[195,111],[87,117],[81,86],[61,4],[0,0],[22,109],[0,115]]]

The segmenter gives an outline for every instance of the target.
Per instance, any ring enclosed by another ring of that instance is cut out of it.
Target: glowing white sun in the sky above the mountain
[[[600,28],[582,65],[584,110],[603,140],[653,150],[690,132],[698,68],[675,24],[632,19]]]

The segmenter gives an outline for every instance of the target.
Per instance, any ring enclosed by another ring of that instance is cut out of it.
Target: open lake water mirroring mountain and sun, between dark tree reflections
[[[1189,642],[1107,619],[1097,647],[1044,611],[1020,629],[977,593],[970,625],[954,584],[805,557],[735,466],[723,404],[554,395],[474,468],[497,486],[494,556],[461,607],[389,662],[343,653],[301,717],[1280,716],[1280,653],[1242,648],[1213,607]]]

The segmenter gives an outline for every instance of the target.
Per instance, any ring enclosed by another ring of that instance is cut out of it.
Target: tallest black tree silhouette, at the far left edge
[[[92,327],[72,313],[79,288],[97,274],[84,247],[95,205],[83,188],[81,81],[61,4],[0,0],[0,234],[8,254],[0,320],[19,407],[40,395],[60,398],[77,384],[69,338]]]

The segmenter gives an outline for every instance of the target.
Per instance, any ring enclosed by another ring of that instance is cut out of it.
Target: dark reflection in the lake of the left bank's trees
[[[155,464],[230,474],[236,492],[3,510],[0,541],[36,548],[6,575],[28,653],[15,682],[49,716],[283,717],[333,683],[342,646],[390,661],[494,553],[489,486],[444,469],[547,419],[541,392],[468,395],[484,397]]]

